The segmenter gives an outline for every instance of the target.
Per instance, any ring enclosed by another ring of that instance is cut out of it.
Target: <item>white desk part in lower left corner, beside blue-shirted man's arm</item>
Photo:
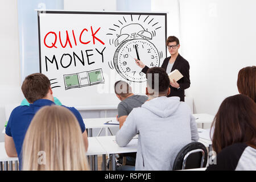
[[[0,142],[0,171],[2,171],[3,169],[5,171],[8,170],[8,162],[10,171],[13,170],[13,162],[15,162],[15,170],[18,170],[18,158],[10,158],[9,156],[7,156],[5,151],[5,142]]]

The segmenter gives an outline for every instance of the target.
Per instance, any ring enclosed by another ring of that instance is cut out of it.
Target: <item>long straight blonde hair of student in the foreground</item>
[[[23,170],[89,170],[79,123],[63,106],[44,106],[31,121],[22,150]]]

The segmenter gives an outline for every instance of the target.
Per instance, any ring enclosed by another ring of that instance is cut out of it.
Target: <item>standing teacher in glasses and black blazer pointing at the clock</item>
[[[189,88],[190,80],[189,80],[189,63],[179,54],[180,43],[179,39],[175,36],[169,36],[166,40],[166,46],[171,56],[166,57],[164,59],[162,68],[166,70],[167,74],[174,71],[175,69],[179,70],[179,72],[183,75],[183,77],[178,80],[172,80],[170,82],[171,92],[167,97],[177,96],[180,97],[180,101],[184,101],[184,90]],[[142,63],[141,60],[135,59],[136,64],[143,68],[142,72],[147,73],[148,67]]]

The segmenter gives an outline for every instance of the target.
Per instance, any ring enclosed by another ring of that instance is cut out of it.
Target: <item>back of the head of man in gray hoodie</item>
[[[163,68],[152,67],[148,69],[146,78],[150,95],[165,95],[168,93],[170,79]]]

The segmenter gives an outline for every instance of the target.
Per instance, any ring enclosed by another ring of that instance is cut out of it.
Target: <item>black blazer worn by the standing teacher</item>
[[[163,64],[161,66],[161,68],[163,68],[165,71],[167,69],[167,65],[169,63],[170,58],[171,56],[166,57],[166,59],[164,59]],[[184,101],[184,97],[185,97],[184,90],[189,88],[190,86],[189,63],[182,56],[180,56],[180,54],[177,56],[174,62],[174,65],[172,66],[171,72],[174,71],[175,69],[179,70],[179,72],[183,75],[183,77],[179,81],[177,81],[177,83],[180,85],[180,88],[176,89],[170,85],[171,93],[167,97],[178,96],[180,97],[180,101]],[[147,70],[148,70],[148,67],[146,66],[142,69],[142,72],[146,74]]]

